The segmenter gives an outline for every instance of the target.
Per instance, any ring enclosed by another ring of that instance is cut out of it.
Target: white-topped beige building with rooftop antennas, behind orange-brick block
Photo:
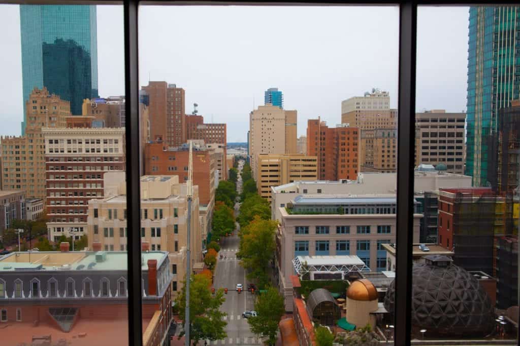
[[[390,109],[387,91],[372,89],[341,102],[341,122],[361,130],[396,129],[397,112]]]

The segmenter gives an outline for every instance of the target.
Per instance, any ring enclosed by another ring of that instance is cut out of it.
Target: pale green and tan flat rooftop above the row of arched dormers
[[[104,255],[103,255],[104,254]],[[148,270],[148,260],[156,259],[159,267],[167,256],[164,251],[149,251],[142,253],[141,270]],[[98,258],[96,258],[98,256]],[[99,257],[103,260],[98,261]],[[100,252],[14,252],[0,259],[0,272],[6,271],[36,271],[36,270],[126,270],[126,251]]]

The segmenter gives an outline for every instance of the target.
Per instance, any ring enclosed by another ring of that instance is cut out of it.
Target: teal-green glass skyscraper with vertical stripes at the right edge
[[[489,137],[497,132],[499,109],[518,98],[518,20],[520,7],[470,7],[465,173],[473,186],[487,185]]]

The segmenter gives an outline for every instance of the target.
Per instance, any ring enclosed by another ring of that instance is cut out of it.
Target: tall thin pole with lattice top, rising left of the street
[[[190,257],[190,246],[191,246],[191,199],[193,197],[192,191],[192,178],[193,178],[193,142],[190,141],[189,149],[189,161],[188,161],[188,181],[186,182],[186,197],[188,198],[188,217],[186,219],[186,232],[187,241],[186,246],[186,312],[185,312],[185,338],[186,346],[190,346],[190,273],[191,273],[191,257]]]

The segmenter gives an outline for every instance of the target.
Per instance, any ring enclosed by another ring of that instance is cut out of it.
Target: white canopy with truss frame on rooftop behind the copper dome
[[[294,270],[298,275],[309,273],[311,280],[314,274],[341,273],[342,279],[350,272],[370,271],[365,262],[358,256],[297,256],[293,260]]]

